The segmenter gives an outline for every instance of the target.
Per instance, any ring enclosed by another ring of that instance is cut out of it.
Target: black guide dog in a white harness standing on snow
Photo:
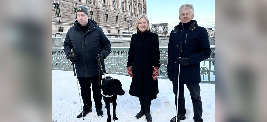
[[[116,105],[117,105],[117,95],[123,95],[125,92],[122,89],[122,84],[118,79],[111,79],[112,77],[102,78],[102,95],[106,103],[107,109],[107,122],[111,122],[111,115],[109,111],[109,103],[112,103],[113,106],[113,120],[118,120],[116,117]]]

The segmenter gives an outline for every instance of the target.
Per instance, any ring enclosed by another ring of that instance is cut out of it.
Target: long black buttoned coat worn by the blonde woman
[[[127,67],[132,66],[133,78],[129,94],[156,99],[158,79],[153,80],[153,66],[160,67],[159,36],[150,30],[132,35]]]

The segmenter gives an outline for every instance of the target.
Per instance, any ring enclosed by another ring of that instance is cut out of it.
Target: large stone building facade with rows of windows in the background
[[[74,25],[75,10],[80,5],[87,7],[89,18],[96,21],[104,33],[128,31],[127,17],[129,30],[133,31],[138,15],[147,13],[146,0],[59,0],[59,10],[52,0],[52,34],[68,31]]]

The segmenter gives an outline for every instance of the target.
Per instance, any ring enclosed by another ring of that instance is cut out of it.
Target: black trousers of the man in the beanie
[[[101,95],[101,86],[99,86],[99,77],[77,77],[81,87],[81,97],[84,103],[83,110],[90,110],[92,107],[91,100],[91,83],[93,90],[93,98],[95,101],[96,109],[102,108],[102,95]]]

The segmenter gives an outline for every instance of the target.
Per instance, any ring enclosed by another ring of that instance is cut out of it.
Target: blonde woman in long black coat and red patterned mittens
[[[139,98],[141,110],[137,119],[144,114],[148,122],[152,122],[150,114],[151,100],[159,93],[157,76],[160,67],[159,36],[150,32],[147,16],[138,16],[129,48],[127,70],[132,83],[129,94]]]

